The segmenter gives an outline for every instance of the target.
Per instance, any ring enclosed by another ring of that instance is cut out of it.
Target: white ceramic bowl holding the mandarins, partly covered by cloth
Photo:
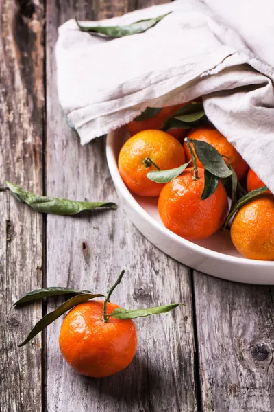
[[[236,282],[274,284],[274,261],[242,258],[234,248],[228,230],[190,242],[164,227],[158,215],[157,198],[132,194],[121,179],[117,159],[128,137],[126,128],[109,133],[106,153],[116,191],[137,229],[164,253],[197,271]]]

